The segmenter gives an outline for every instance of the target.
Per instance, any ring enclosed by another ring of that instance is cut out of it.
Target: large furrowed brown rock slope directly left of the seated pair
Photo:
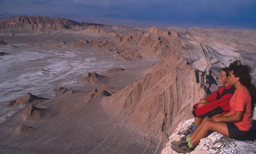
[[[152,73],[109,96],[105,109],[122,117],[123,123],[159,139],[160,145],[180,119],[192,117],[187,114],[192,105],[206,96],[196,80],[197,71],[184,58],[171,53],[154,65]]]

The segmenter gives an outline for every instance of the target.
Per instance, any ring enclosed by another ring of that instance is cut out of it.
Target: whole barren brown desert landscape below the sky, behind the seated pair
[[[1,20],[0,153],[173,153],[169,137],[220,86],[221,68],[255,66],[255,40],[255,30]],[[238,153],[256,152],[244,144]]]

